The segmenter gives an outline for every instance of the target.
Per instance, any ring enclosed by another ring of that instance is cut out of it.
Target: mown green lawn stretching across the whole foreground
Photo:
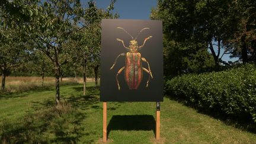
[[[103,103],[93,83],[0,95],[0,143],[100,143]],[[155,103],[108,103],[109,143],[255,143],[249,133],[174,100],[161,103],[161,140],[155,137]]]

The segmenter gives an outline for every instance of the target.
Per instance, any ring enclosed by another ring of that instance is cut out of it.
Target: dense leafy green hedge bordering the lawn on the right
[[[165,92],[202,110],[249,118],[256,123],[255,65],[178,76],[166,81]]]

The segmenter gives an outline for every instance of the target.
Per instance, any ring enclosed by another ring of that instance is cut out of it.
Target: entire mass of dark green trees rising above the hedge
[[[167,71],[174,71],[172,75],[187,69],[204,71],[200,66],[193,65],[200,63],[196,56],[199,49],[210,50],[216,69],[222,62],[221,49],[225,49],[225,54],[241,57],[243,62],[247,59],[255,61],[255,8],[253,0],[159,0],[158,6],[152,9],[151,18],[162,20],[164,39],[175,42],[174,47],[167,47],[171,49],[171,53],[166,54],[167,58],[174,59],[166,62],[172,65]],[[207,61],[204,64],[209,65],[211,59],[204,57],[203,61]],[[185,62],[182,59],[186,59]]]

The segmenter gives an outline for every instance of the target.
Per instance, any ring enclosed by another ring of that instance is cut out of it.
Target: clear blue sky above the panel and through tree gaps
[[[96,0],[96,5],[99,8],[107,8],[111,0]],[[82,4],[87,4],[87,1],[82,0]],[[151,9],[156,8],[156,0],[117,0],[114,4],[113,13],[119,14],[120,19],[139,19],[139,20],[149,20]],[[215,47],[217,53],[217,48]],[[210,52],[210,50],[209,50]],[[223,49],[220,50],[220,56],[224,52]],[[229,55],[223,55],[222,60],[236,61],[238,58],[230,59]]]

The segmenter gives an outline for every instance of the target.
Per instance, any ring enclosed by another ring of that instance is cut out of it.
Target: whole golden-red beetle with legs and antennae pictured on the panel
[[[124,30],[124,28],[121,28],[121,27],[117,27],[117,28]],[[146,29],[149,29],[149,28],[143,28],[142,30],[140,30],[139,34]],[[127,33],[126,30],[124,31]],[[139,34],[137,34],[137,36],[139,36]],[[132,37],[130,34],[129,36]],[[125,66],[119,69],[119,71],[116,74],[117,87],[119,88],[119,90],[120,90],[120,85],[118,81],[118,75],[123,70],[124,70],[124,79],[126,81],[126,84],[129,86],[129,89],[137,89],[139,87],[140,82],[142,81],[142,78],[143,78],[143,71],[145,71],[149,75],[146,87],[148,87],[149,79],[153,78],[148,61],[144,57],[142,57],[141,54],[138,52],[140,49],[142,49],[146,41],[151,39],[152,36],[147,37],[144,40],[142,46],[138,46],[136,41],[137,36],[135,39],[133,39],[132,37],[132,40],[130,40],[129,47],[124,46],[123,40],[117,39],[118,41],[121,41],[121,43],[123,44],[123,47],[128,51],[127,53],[121,53],[119,55],[119,56],[126,56]],[[113,66],[111,66],[110,69],[114,68],[114,65],[116,65],[116,62],[119,56],[116,57],[114,64]],[[142,61],[148,64],[148,69],[142,67]]]

